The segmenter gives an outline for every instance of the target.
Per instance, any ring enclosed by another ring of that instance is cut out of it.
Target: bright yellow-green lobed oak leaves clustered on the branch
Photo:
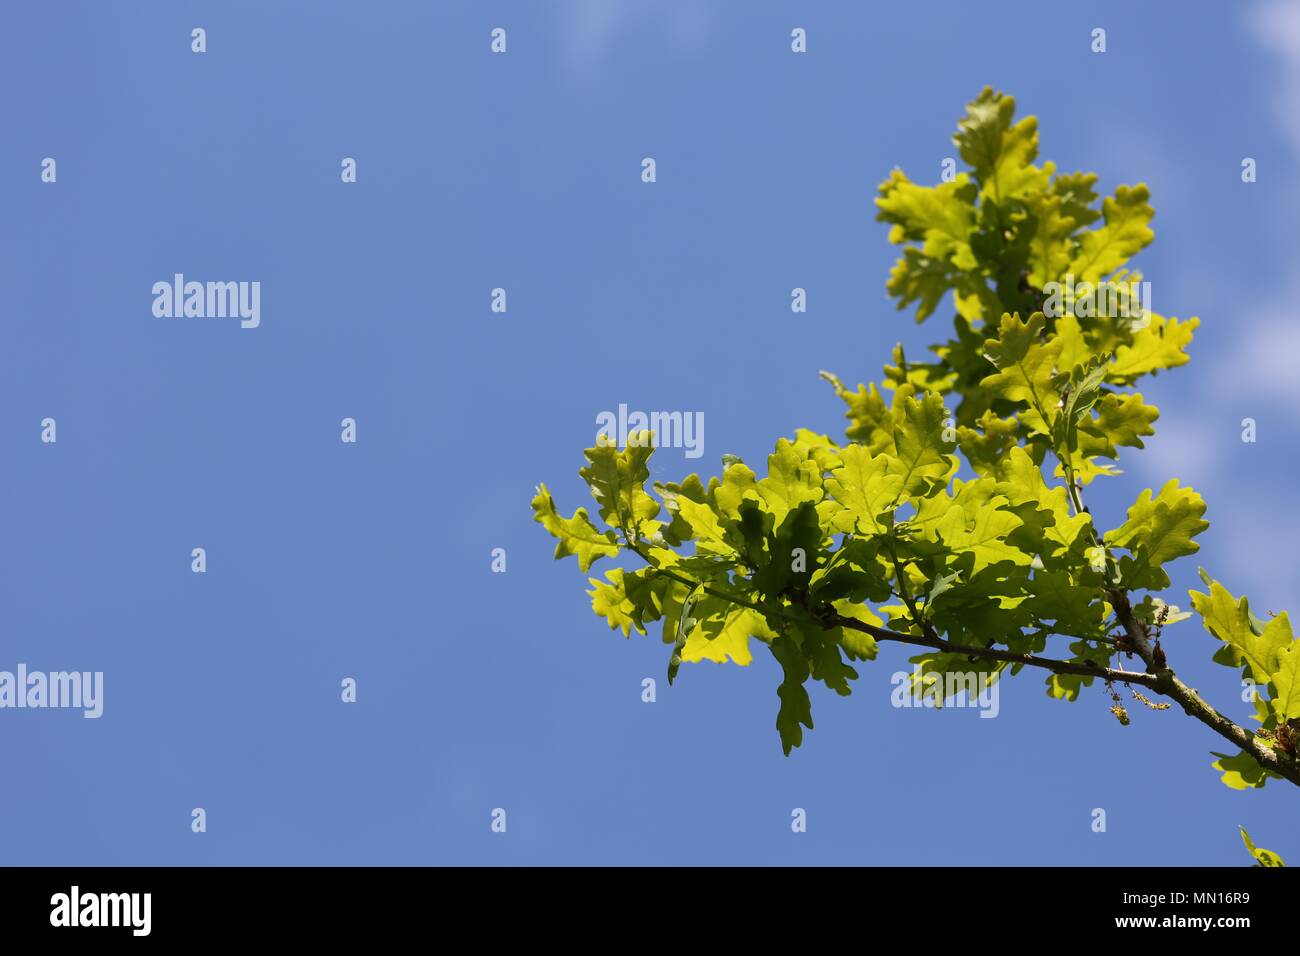
[[[592,607],[625,636],[655,630],[670,679],[682,663],[776,658],[786,753],[812,727],[809,683],[848,696],[876,657],[845,619],[1032,654],[1050,641],[1052,657],[1100,670],[1131,653],[1122,617],[1157,649],[1191,617],[1161,592],[1166,568],[1199,550],[1201,497],[1170,477],[1105,520],[1083,494],[1154,433],[1141,385],[1188,362],[1199,320],[1135,317],[1113,307],[1123,295],[1095,294],[1141,281],[1130,260],[1153,239],[1147,186],[1102,196],[1096,174],[1039,163],[1037,121],[1014,112],[985,88],[953,137],[966,172],[923,186],[894,169],[880,183],[876,219],[901,252],[889,295],[916,321],[950,303],[953,321],[924,360],[896,347],[878,382],[823,373],[846,406],[844,440],[800,429],[766,462],[728,458],[720,473],[653,485],[650,441],[598,445],[580,472],[594,510],[566,516],[545,485],[533,498],[558,558],[582,571],[620,561],[589,578]],[[1286,614],[1260,620],[1202,579],[1191,606],[1214,659],[1258,688],[1254,740],[1294,757],[1300,650]],[[911,661],[971,667],[942,650]],[[991,679],[1023,669],[980,667]],[[1045,689],[1075,700],[1093,682],[1053,672]],[[1216,756],[1230,787],[1274,775],[1247,750]]]

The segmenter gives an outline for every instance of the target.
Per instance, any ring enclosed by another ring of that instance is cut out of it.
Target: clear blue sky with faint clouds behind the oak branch
[[[0,670],[101,670],[105,711],[0,711],[0,864],[1236,866],[1239,823],[1300,862],[1294,790],[1035,674],[997,719],[894,709],[884,648],[783,757],[770,654],[670,689],[530,519],[538,481],[586,503],[619,403],[705,412],[659,480],[840,436],[818,369],[878,380],[948,321],[887,299],[875,186],[936,181],[984,85],[1044,159],[1149,183],[1138,263],[1202,321],[1093,512],[1178,476],[1212,527],[1173,600],[1200,562],[1300,609],[1300,4],[5,4]],[[176,272],[260,281],[261,326],[153,317]],[[1165,644],[1247,718],[1197,619]]]

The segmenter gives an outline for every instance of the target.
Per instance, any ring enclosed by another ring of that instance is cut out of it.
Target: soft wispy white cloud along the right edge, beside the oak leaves
[[[1273,78],[1262,95],[1269,98],[1274,133],[1291,152],[1270,164],[1268,176],[1278,183],[1300,169],[1300,0],[1243,5],[1242,17],[1245,35],[1258,46],[1261,65]],[[1282,163],[1290,168],[1282,169]],[[1262,182],[1252,189],[1268,187]],[[1286,248],[1295,242],[1291,224],[1300,213],[1300,194],[1275,193],[1275,204],[1286,208],[1275,208],[1280,215],[1261,219],[1258,228]],[[1213,281],[1213,272],[1206,277]],[[1188,287],[1196,285],[1193,280]],[[1290,475],[1286,455],[1275,449],[1300,434],[1300,280],[1280,276],[1249,291],[1234,300],[1234,313],[1208,317],[1225,328],[1231,324],[1231,337],[1218,339],[1230,343],[1212,355],[1197,352],[1193,343],[1193,363],[1200,367],[1193,375],[1201,376],[1195,397],[1164,408],[1148,451],[1128,460],[1152,483],[1176,475],[1196,486],[1209,502],[1214,536],[1213,551],[1202,561],[1238,589],[1249,587],[1260,606],[1286,605],[1295,597],[1294,541],[1300,516],[1277,506]],[[1225,407],[1232,410],[1231,416],[1225,418]],[[1257,445],[1240,441],[1238,414],[1257,420]]]

